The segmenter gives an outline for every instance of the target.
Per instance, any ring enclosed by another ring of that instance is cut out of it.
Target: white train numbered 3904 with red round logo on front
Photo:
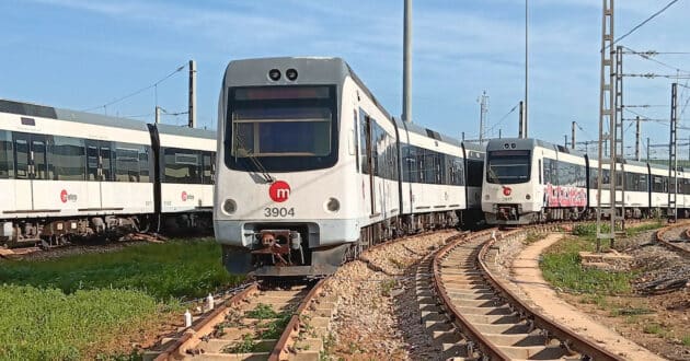
[[[230,272],[331,273],[470,213],[465,163],[481,170],[481,148],[468,159],[458,140],[394,120],[340,58],[231,61],[218,118],[214,229]]]

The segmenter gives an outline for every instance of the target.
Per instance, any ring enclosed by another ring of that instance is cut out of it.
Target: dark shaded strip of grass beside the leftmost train
[[[220,263],[209,240],[138,244],[118,252],[67,256],[45,261],[0,263],[0,283],[77,290],[141,290],[158,300],[200,298],[241,282]]]

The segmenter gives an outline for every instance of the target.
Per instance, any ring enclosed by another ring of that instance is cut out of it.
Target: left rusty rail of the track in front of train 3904
[[[230,306],[237,305],[242,300],[246,299],[251,294],[258,292],[258,283],[254,282],[244,290],[234,294],[229,300],[221,303],[212,312],[206,315],[199,323],[192,325],[184,331],[181,338],[176,339],[165,350],[156,358],[156,361],[166,361],[183,358],[188,349],[196,347],[202,341],[202,338],[210,334],[214,327],[221,323],[228,313],[230,313]]]

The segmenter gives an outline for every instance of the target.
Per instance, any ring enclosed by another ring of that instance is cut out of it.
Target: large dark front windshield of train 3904
[[[228,167],[292,172],[337,161],[335,86],[234,88],[228,105]]]

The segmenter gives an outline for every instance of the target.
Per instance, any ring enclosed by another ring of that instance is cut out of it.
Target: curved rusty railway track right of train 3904
[[[417,266],[422,322],[442,359],[622,360],[542,317],[505,288],[483,260],[493,246],[491,231],[459,236]]]

